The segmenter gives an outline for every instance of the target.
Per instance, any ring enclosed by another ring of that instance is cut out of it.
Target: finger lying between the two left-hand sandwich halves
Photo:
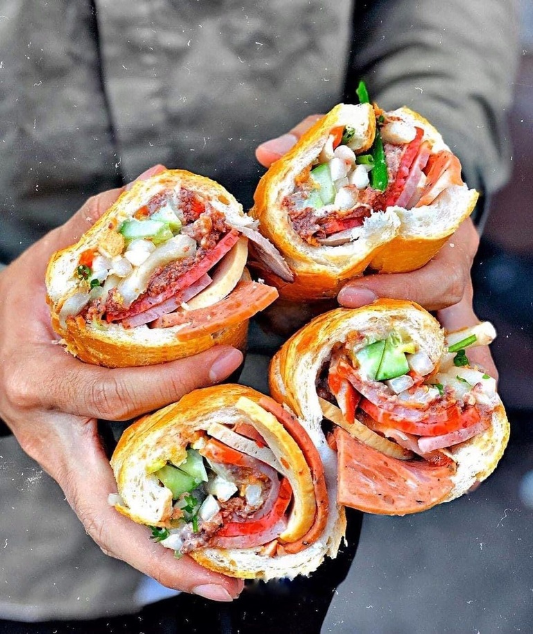
[[[161,408],[192,390],[219,383],[242,363],[240,350],[217,346],[170,363],[110,370],[82,363],[53,348],[46,359],[34,363],[40,380],[39,389],[33,390],[46,399],[38,405],[115,421]],[[28,392],[32,387],[28,382],[22,389]]]

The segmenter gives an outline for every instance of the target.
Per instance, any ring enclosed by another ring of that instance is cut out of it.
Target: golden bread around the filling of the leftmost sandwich
[[[80,291],[84,284],[74,275],[80,254],[98,246],[98,240],[108,230],[110,223],[120,225],[131,219],[136,210],[154,194],[179,186],[204,194],[215,208],[230,219],[244,217],[240,203],[219,183],[186,170],[166,170],[146,181],[134,183],[131,190],[121,194],[76,244],[57,251],[51,257],[46,271],[46,289],[52,325],[55,332],[62,337],[66,350],[82,361],[109,368],[124,368],[182,359],[217,344],[235,345],[244,350],[248,320],[214,334],[198,336],[192,341],[179,340],[179,326],[153,329],[138,326],[125,329],[117,324],[97,326],[86,323],[80,317],[67,318],[65,325],[60,322],[60,311],[65,300]]]

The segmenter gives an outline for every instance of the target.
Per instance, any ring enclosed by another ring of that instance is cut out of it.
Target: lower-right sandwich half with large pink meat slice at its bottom
[[[445,334],[407,301],[336,309],[274,356],[271,392],[310,425],[332,425],[340,504],[424,511],[485,480],[503,454],[496,381],[467,356],[495,335],[489,323]]]

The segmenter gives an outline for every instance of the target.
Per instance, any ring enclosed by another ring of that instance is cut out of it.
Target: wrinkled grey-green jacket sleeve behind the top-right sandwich
[[[506,116],[518,67],[515,0],[355,3],[346,100],[363,77],[372,100],[428,118],[487,199],[510,172]],[[480,224],[482,210],[474,217]],[[483,218],[484,220],[485,218]]]

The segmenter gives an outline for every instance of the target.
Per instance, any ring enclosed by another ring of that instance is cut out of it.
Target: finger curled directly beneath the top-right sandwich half
[[[469,280],[478,242],[473,224],[465,221],[422,269],[351,280],[338,293],[337,300],[349,308],[370,304],[380,297],[412,300],[427,310],[456,304]]]

